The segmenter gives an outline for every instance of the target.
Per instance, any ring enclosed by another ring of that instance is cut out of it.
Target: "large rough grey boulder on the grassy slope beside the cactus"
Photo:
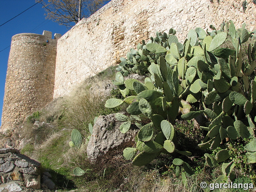
[[[98,117],[87,147],[91,161],[98,161],[114,150],[121,153],[122,149],[135,144],[134,138],[139,130],[132,125],[128,132],[121,133],[119,127],[122,123],[116,120],[115,114]]]

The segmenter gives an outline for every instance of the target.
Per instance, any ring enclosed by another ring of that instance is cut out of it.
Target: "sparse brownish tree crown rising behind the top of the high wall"
[[[99,10],[109,0],[81,0],[81,19],[87,18]],[[38,1],[37,1],[38,2]],[[79,0],[41,1],[46,11],[46,19],[68,27],[78,22]],[[73,23],[74,22],[74,23]]]

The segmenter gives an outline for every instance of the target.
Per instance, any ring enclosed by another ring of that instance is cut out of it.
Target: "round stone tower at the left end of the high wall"
[[[15,128],[53,99],[57,39],[60,34],[21,33],[12,37],[1,130]]]

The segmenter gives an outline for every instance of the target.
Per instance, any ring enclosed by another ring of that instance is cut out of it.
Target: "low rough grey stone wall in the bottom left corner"
[[[40,165],[17,149],[0,149],[0,191],[40,189]]]

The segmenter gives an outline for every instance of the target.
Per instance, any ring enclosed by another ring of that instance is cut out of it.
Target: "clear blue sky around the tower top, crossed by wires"
[[[0,0],[0,25],[35,4],[35,0]],[[0,51],[11,45],[12,36],[19,33],[43,34],[44,30],[64,35],[70,28],[45,20],[42,4],[36,4],[26,12],[0,27]],[[10,47],[0,52],[0,119],[4,101],[4,85]]]

